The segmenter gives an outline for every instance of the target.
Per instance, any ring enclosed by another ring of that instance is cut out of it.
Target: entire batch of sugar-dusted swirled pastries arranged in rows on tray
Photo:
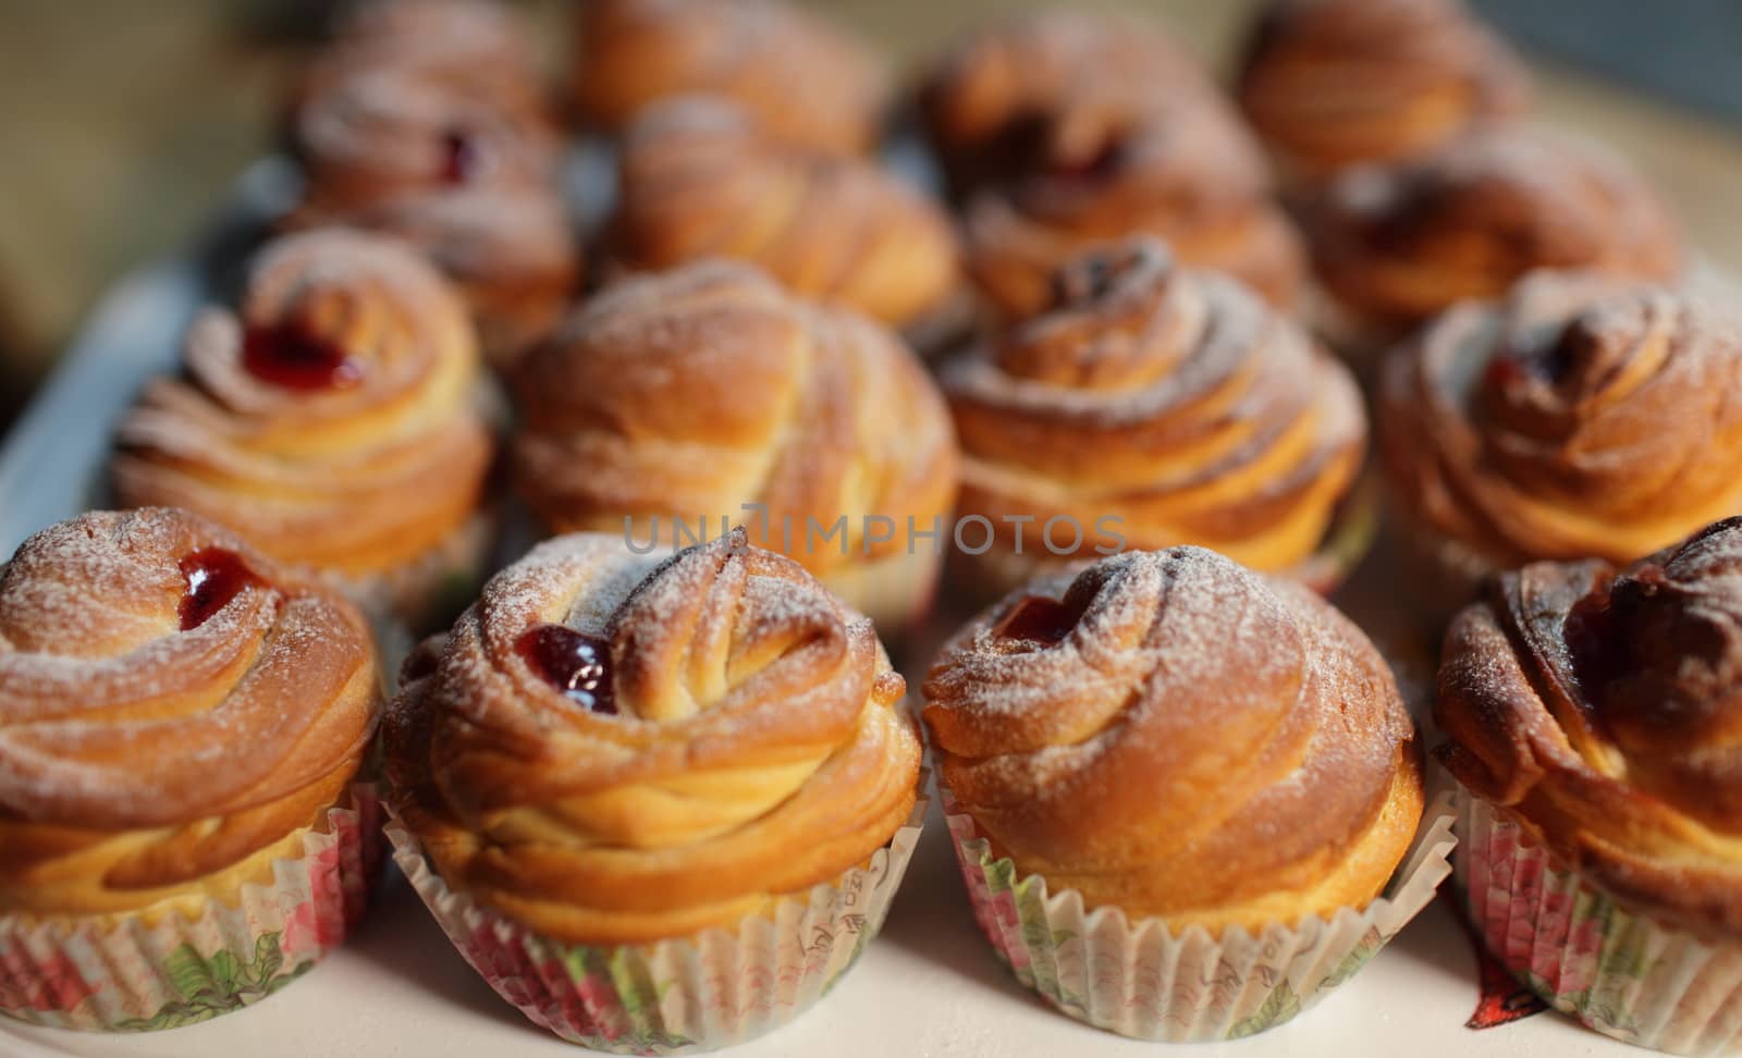
[[[1273,1028],[1453,875],[1559,1009],[1742,1042],[1742,325],[1456,0],[1275,0],[1232,92],[1134,16],[911,90],[780,0],[575,23],[554,90],[510,9],[359,5],[120,510],[0,569],[0,1011],[246,1006],[392,856],[557,1035],[740,1042],[881,926],[923,745],[1101,1028]],[[1458,614],[1427,734],[1326,600],[1381,506]]]

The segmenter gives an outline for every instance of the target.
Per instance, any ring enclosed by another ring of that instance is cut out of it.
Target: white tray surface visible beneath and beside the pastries
[[[30,532],[101,503],[101,470],[117,416],[139,383],[174,365],[181,331],[214,296],[213,275],[233,268],[251,231],[287,191],[282,165],[263,164],[200,254],[150,266],[92,313],[52,381],[0,449],[0,555]],[[1369,564],[1350,611],[1397,642],[1402,621],[1385,606],[1383,553]],[[1420,644],[1416,644],[1420,646]],[[918,672],[909,661],[909,679]],[[1420,686],[1420,672],[1408,673]],[[935,804],[935,800],[934,800]],[[1472,1030],[1477,969],[1446,901],[1428,908],[1354,981],[1298,1020],[1230,1044],[1127,1041],[1052,1013],[1021,988],[981,940],[942,821],[934,818],[883,934],[861,964],[796,1023],[732,1055],[746,1058],[1061,1058],[1071,1055],[1338,1055],[1378,1058],[1637,1055],[1538,1013]],[[204,1025],[141,1035],[30,1028],[0,1018],[0,1056],[157,1058],[484,1058],[578,1055],[502,1002],[460,959],[388,863],[388,879],[352,943],[277,995]]]

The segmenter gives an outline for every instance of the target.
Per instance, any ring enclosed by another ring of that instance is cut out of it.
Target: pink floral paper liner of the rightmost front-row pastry
[[[1460,790],[1455,877],[1488,950],[1557,1011],[1671,1055],[1742,1051],[1742,943],[1622,908],[1503,809]]]

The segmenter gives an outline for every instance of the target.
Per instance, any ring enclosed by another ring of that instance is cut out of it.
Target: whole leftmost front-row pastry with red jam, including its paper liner
[[[310,969],[378,856],[380,679],[333,588],[178,510],[0,566],[0,1013],[167,1028]],[[190,957],[232,973],[190,1004]]]

